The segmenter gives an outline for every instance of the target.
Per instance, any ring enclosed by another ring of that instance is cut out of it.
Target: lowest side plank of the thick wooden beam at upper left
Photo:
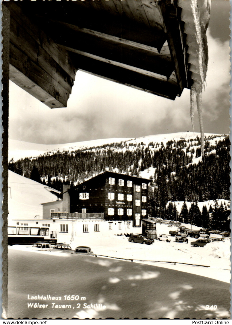
[[[52,102],[54,105],[47,105],[47,98],[39,99],[44,100],[45,104],[51,108],[53,107],[66,107],[67,101],[69,99],[69,93],[58,84],[57,80],[52,78],[48,73],[46,73],[43,69],[33,63],[31,60],[28,61],[28,56],[26,56],[23,52],[21,52],[18,48],[14,47],[13,44],[10,43],[10,64],[14,66],[17,70],[19,70],[23,75],[25,75],[28,79],[32,81],[32,84],[36,87],[39,86],[41,89],[45,91],[50,96],[52,96],[59,102],[59,104],[55,101]],[[12,74],[10,75],[12,78]],[[19,77],[19,74],[14,76],[14,80]],[[10,78],[10,79],[11,79]],[[11,79],[14,81],[13,79]],[[36,80],[36,82],[35,82]],[[16,81],[14,81],[16,82]],[[21,80],[19,79],[16,84],[20,84]],[[32,87],[26,88],[29,93],[32,92]],[[35,90],[38,88],[35,88]],[[34,90],[33,90],[34,93]],[[47,95],[47,96],[48,96]],[[33,95],[35,96],[35,95]],[[38,94],[40,97],[40,94]],[[36,96],[35,96],[36,97]],[[37,98],[37,97],[36,97]]]

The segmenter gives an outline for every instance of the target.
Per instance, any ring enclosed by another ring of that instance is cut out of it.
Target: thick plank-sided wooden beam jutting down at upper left
[[[10,79],[50,108],[66,107],[76,70],[67,51],[53,42],[15,3],[10,11]]]

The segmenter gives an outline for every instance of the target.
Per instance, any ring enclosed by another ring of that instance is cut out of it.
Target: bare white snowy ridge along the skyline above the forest
[[[200,137],[200,133],[193,133],[193,132],[177,132],[177,133],[168,133],[168,134],[157,134],[157,135],[150,135],[150,136],[143,136],[139,138],[111,138],[111,139],[99,139],[99,140],[89,140],[89,141],[82,141],[82,142],[74,142],[74,143],[65,143],[65,144],[38,144],[38,143],[30,143],[25,141],[19,140],[11,140],[9,139],[9,151],[8,157],[9,160],[14,158],[14,161],[17,161],[20,158],[25,157],[36,157],[39,155],[43,155],[49,152],[56,152],[56,151],[63,151],[67,150],[69,152],[83,149],[83,148],[90,148],[90,147],[97,147],[102,146],[105,144],[111,144],[116,142],[125,142],[138,144],[143,142],[145,146],[148,146],[150,142],[154,143],[161,143],[165,145],[167,141],[170,140],[181,140],[181,139],[188,139],[196,138],[197,136]],[[210,134],[206,133],[205,137],[208,136],[217,136],[216,138],[212,139],[212,144],[215,143],[215,140],[219,141],[222,135]],[[133,148],[134,149],[134,148]]]

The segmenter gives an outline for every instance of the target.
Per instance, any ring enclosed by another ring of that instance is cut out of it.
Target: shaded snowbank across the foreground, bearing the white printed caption
[[[122,238],[112,242],[110,238],[108,244],[113,243],[125,250],[132,245],[131,255],[142,257],[143,251],[148,257],[150,246]],[[164,250],[162,244],[156,249]],[[95,245],[94,250],[100,252],[100,247]],[[230,316],[229,283],[179,272],[176,266],[171,269],[95,255],[32,252],[25,247],[10,247],[8,256],[7,316],[13,319]],[[221,277],[225,277],[223,272]]]

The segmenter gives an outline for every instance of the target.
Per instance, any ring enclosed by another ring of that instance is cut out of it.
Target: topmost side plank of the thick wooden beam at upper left
[[[31,1],[27,3],[29,7],[30,4]],[[48,53],[48,55],[50,55],[57,62],[57,64],[74,80],[76,70],[73,69],[69,54],[64,50],[61,50],[47,35],[47,33],[43,32],[41,27],[35,23],[36,19],[35,17],[33,17],[33,13],[30,13],[31,19],[29,19],[25,15],[24,11],[21,9],[20,5],[22,5],[22,3],[19,3],[19,1],[10,1],[6,3],[6,6],[10,10],[10,15],[15,19],[15,21],[17,21],[17,23],[22,27],[22,29],[25,30],[25,32],[27,32],[28,34],[31,34],[34,40],[41,47],[43,47],[43,49]],[[24,3],[24,5],[26,5],[26,2]]]

